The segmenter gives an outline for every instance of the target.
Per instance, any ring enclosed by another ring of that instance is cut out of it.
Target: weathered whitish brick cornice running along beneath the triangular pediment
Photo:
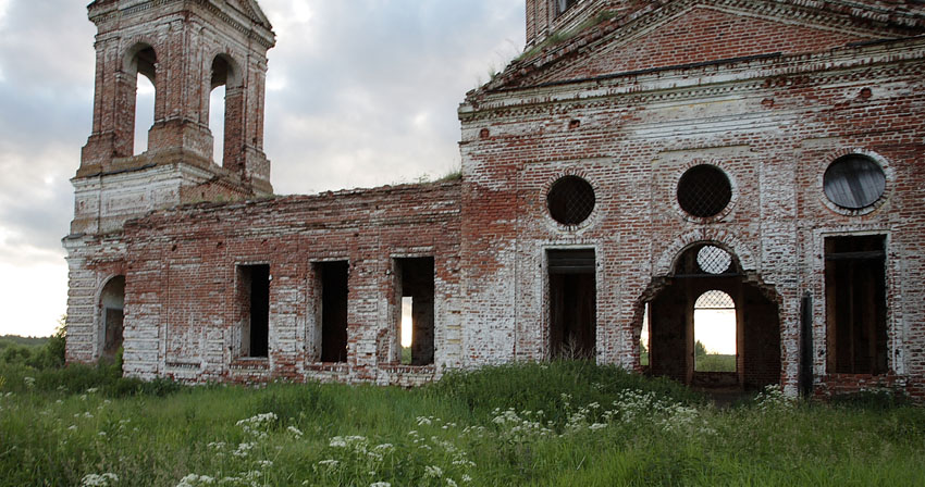
[[[529,116],[544,113],[550,103],[604,107],[612,104],[614,97],[627,97],[627,102],[639,104],[756,91],[767,88],[768,83],[825,85],[899,76],[925,76],[925,36],[817,54],[719,60],[488,91],[471,95],[460,107],[459,117]]]

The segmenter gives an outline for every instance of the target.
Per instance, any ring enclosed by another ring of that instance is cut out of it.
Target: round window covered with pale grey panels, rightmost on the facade
[[[835,204],[860,210],[874,204],[887,189],[879,164],[866,155],[850,154],[829,164],[823,176],[826,197]]]

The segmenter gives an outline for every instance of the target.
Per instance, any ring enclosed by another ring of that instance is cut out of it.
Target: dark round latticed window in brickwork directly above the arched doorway
[[[694,216],[705,218],[719,214],[731,199],[729,178],[713,165],[695,165],[678,182],[678,204]]]

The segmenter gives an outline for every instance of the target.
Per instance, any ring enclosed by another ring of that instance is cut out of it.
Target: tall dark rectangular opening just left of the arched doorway
[[[552,358],[596,357],[594,250],[548,250]]]

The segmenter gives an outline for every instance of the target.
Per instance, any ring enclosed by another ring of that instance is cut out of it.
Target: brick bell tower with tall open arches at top
[[[74,220],[63,240],[75,361],[97,360],[111,337],[121,340],[106,322],[123,297],[107,295],[103,305],[101,289],[124,274],[127,220],[273,192],[263,110],[275,35],[255,0],[96,0],[87,9],[97,26],[92,132],[71,179]],[[139,76],[155,87],[153,120],[135,120]],[[224,133],[212,134],[210,96],[221,86]],[[147,147],[135,147],[136,127],[147,128]],[[215,137],[222,153],[213,153]]]

